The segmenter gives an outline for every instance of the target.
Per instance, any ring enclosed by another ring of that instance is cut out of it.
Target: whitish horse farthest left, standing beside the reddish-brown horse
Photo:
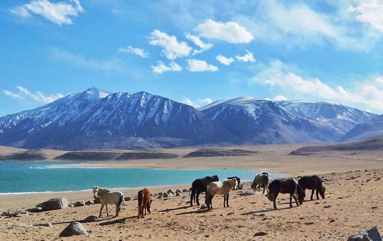
[[[94,198],[99,197],[101,200],[101,209],[100,209],[99,217],[101,217],[101,212],[103,211],[103,208],[105,205],[106,205],[106,216],[109,216],[108,204],[116,205],[116,215],[114,215],[113,217],[118,216],[119,211],[121,210],[121,204],[124,201],[124,194],[121,191],[110,192],[109,190],[105,188],[94,186],[93,197]]]

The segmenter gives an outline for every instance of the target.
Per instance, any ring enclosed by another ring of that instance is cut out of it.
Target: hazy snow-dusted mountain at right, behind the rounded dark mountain
[[[294,113],[316,125],[328,136],[328,141],[336,141],[359,123],[368,121],[376,114],[328,101],[276,101],[286,111]]]

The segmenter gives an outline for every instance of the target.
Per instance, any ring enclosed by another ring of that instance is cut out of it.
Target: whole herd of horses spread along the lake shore
[[[229,196],[231,190],[240,188],[240,178],[238,177],[229,177],[227,180],[219,181],[217,175],[211,177],[205,177],[201,179],[196,179],[192,183],[190,194],[190,206],[193,207],[193,203],[200,205],[199,195],[202,192],[205,192],[205,204],[206,207],[210,210],[213,209],[212,199],[214,195],[224,195],[224,207],[229,207]],[[243,186],[244,184],[242,184]],[[317,176],[305,176],[300,178],[298,181],[295,179],[276,179],[269,184],[269,174],[263,172],[255,176],[251,188],[255,191],[260,192],[260,188],[263,187],[263,193],[265,189],[267,190],[267,198],[273,202],[274,209],[277,209],[276,199],[279,193],[289,193],[290,194],[290,207],[293,207],[292,199],[294,198],[297,206],[302,205],[304,198],[306,196],[305,190],[311,189],[312,194],[310,199],[313,200],[314,191],[316,191],[317,199],[321,195],[324,199],[325,187],[323,187],[322,180]],[[120,191],[109,191],[105,188],[100,188],[97,186],[93,187],[93,196],[94,198],[100,198],[101,217],[102,210],[106,206],[106,213],[109,216],[108,204],[116,206],[116,213],[113,217],[117,217],[119,211],[121,210],[121,204],[124,201],[124,194]],[[150,207],[152,205],[151,193],[147,188],[144,188],[138,191],[137,200],[138,200],[138,215],[137,218],[145,217],[147,212],[151,213]]]

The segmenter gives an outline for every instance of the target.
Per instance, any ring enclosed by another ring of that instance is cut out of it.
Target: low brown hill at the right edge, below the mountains
[[[364,141],[338,143],[330,145],[303,146],[292,151],[289,155],[309,156],[326,151],[362,151],[362,150],[381,150],[383,151],[383,136],[368,138]]]

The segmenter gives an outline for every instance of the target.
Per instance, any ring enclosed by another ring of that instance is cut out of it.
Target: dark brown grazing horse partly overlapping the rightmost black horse
[[[290,194],[290,207],[292,208],[292,198],[294,198],[297,206],[302,205],[305,197],[305,193],[302,188],[298,185],[298,182],[295,179],[280,179],[274,180],[269,185],[269,193],[266,195],[271,202],[274,202],[274,209],[277,209],[275,200],[279,193],[289,193]],[[297,201],[298,195],[298,201]]]

